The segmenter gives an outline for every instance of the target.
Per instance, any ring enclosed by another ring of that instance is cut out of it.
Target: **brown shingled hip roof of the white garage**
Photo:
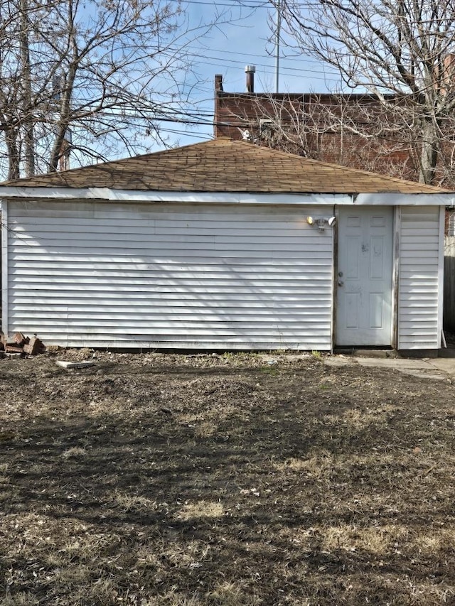
[[[61,173],[6,181],[42,188],[270,193],[441,193],[444,190],[346,166],[214,139]]]

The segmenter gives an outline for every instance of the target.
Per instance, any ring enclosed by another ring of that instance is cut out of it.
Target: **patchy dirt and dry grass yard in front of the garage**
[[[0,359],[0,604],[454,605],[454,389],[316,354]]]

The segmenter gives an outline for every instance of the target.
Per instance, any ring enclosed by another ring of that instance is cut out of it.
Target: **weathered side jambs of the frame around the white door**
[[[373,206],[373,205],[368,205]],[[388,206],[388,205],[387,205]],[[397,349],[398,343],[398,308],[399,308],[399,288],[398,278],[400,272],[400,225],[401,225],[401,209],[400,206],[392,206],[392,293],[391,293],[391,330],[390,330],[390,346],[392,349]],[[336,217],[335,229],[333,229],[333,310],[332,310],[332,344],[333,350],[338,347],[336,343],[336,327],[337,327],[337,312],[338,312],[338,242],[339,242],[339,226],[340,226],[340,205],[336,205],[333,209],[333,215]],[[365,345],[365,347],[368,347]]]

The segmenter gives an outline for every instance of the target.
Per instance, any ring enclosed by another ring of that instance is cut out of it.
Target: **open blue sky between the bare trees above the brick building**
[[[208,122],[213,120],[215,74],[223,75],[225,91],[245,92],[245,65],[255,65],[255,92],[275,90],[274,44],[267,41],[271,36],[267,16],[273,16],[274,11],[267,1],[244,0],[244,4],[249,5],[248,8],[240,7],[236,0],[217,3],[188,0],[184,4],[191,26],[211,21],[217,11],[225,11],[217,27],[190,44],[196,55],[194,67],[198,74],[191,101],[198,116]],[[223,23],[227,20],[232,23]],[[336,87],[336,77],[314,59],[292,56],[284,46],[280,55],[279,92],[328,92]],[[169,124],[166,129],[168,142],[173,145],[197,143],[213,136],[211,124],[188,126],[186,134],[182,134],[180,125]]]

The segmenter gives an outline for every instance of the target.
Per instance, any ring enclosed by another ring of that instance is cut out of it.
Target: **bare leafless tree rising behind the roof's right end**
[[[373,94],[385,110],[386,139],[410,146],[419,180],[444,182],[454,153],[454,0],[279,0],[279,6],[296,50],[334,67],[345,91]],[[366,120],[352,114],[345,131],[376,136],[377,117],[377,109]]]

